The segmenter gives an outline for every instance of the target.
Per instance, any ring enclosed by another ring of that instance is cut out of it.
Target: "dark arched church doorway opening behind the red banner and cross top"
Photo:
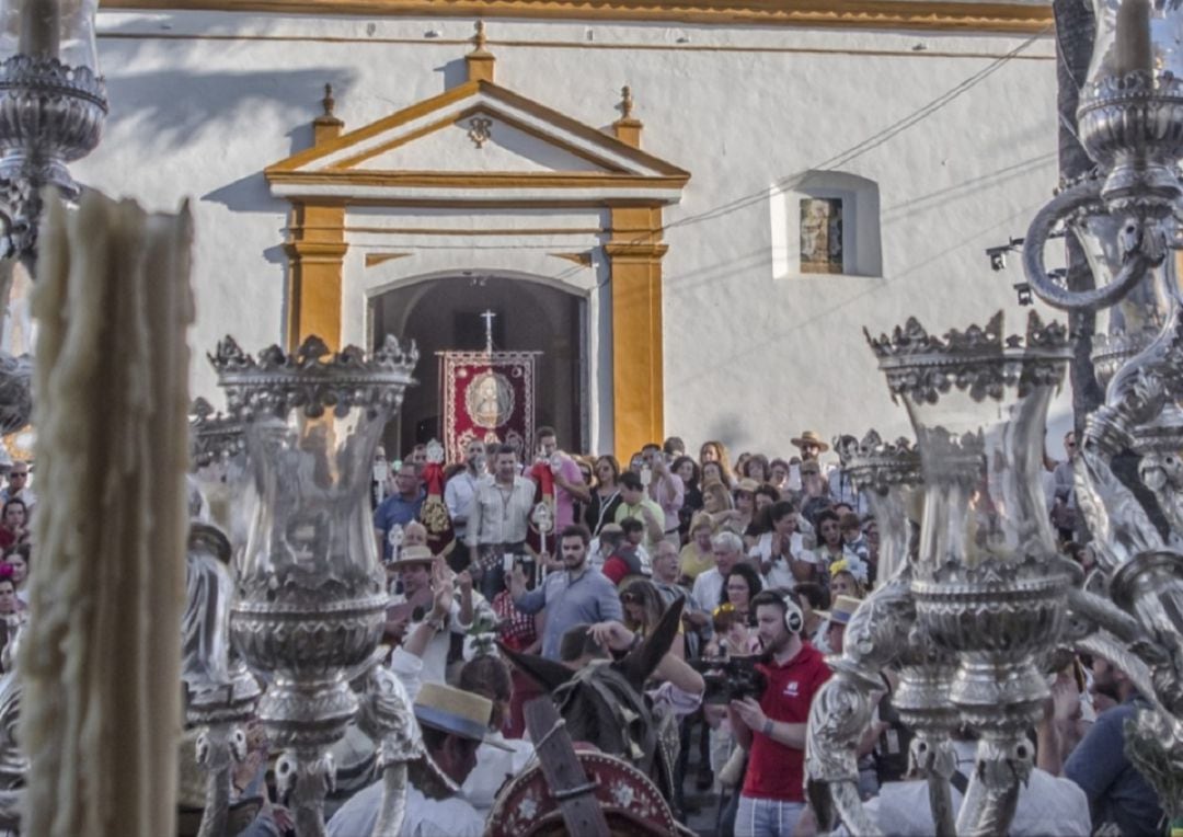
[[[374,347],[387,334],[419,346],[415,378],[384,436],[387,455],[442,438],[438,352],[485,347],[480,315],[493,311],[493,348],[541,352],[535,426],[550,425],[568,450],[588,450],[587,300],[541,282],[461,273],[421,279],[371,297]]]

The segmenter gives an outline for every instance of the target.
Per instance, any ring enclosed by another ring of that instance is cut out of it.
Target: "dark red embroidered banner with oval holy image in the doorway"
[[[508,444],[532,461],[537,352],[440,352],[440,401],[448,462],[473,439]]]

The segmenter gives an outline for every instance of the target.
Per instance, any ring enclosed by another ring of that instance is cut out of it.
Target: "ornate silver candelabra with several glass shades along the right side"
[[[1148,700],[1126,752],[1166,812],[1183,815],[1183,322],[1171,252],[1183,199],[1183,9],[1175,0],[1093,0],[1093,9],[1078,122],[1097,168],[1035,215],[1023,264],[1045,302],[1097,313],[1104,329],[1092,359],[1105,401],[1073,459],[1098,569],[1086,582],[1055,555],[1039,487],[1047,399],[1068,359],[1064,330],[1033,322],[1026,340],[1003,340],[991,322],[937,340],[910,323],[872,341],[916,427],[926,496],[916,553],[852,619],[810,715],[815,797],[855,833],[875,832],[851,793],[852,730],[870,717],[872,672],[911,669],[927,685],[914,695],[901,685],[897,704],[910,704],[901,716],[923,710],[904,720],[923,733],[913,755],[929,768],[937,832],[996,833],[1030,767],[1021,730],[1046,694],[1041,674],[1072,649],[1117,662]],[[1046,271],[1059,227],[1084,245],[1094,290],[1069,290]],[[993,418],[974,418],[991,404]],[[903,646],[885,651],[885,642]],[[939,719],[943,703],[956,714]],[[939,743],[962,723],[981,745],[955,819]]]

